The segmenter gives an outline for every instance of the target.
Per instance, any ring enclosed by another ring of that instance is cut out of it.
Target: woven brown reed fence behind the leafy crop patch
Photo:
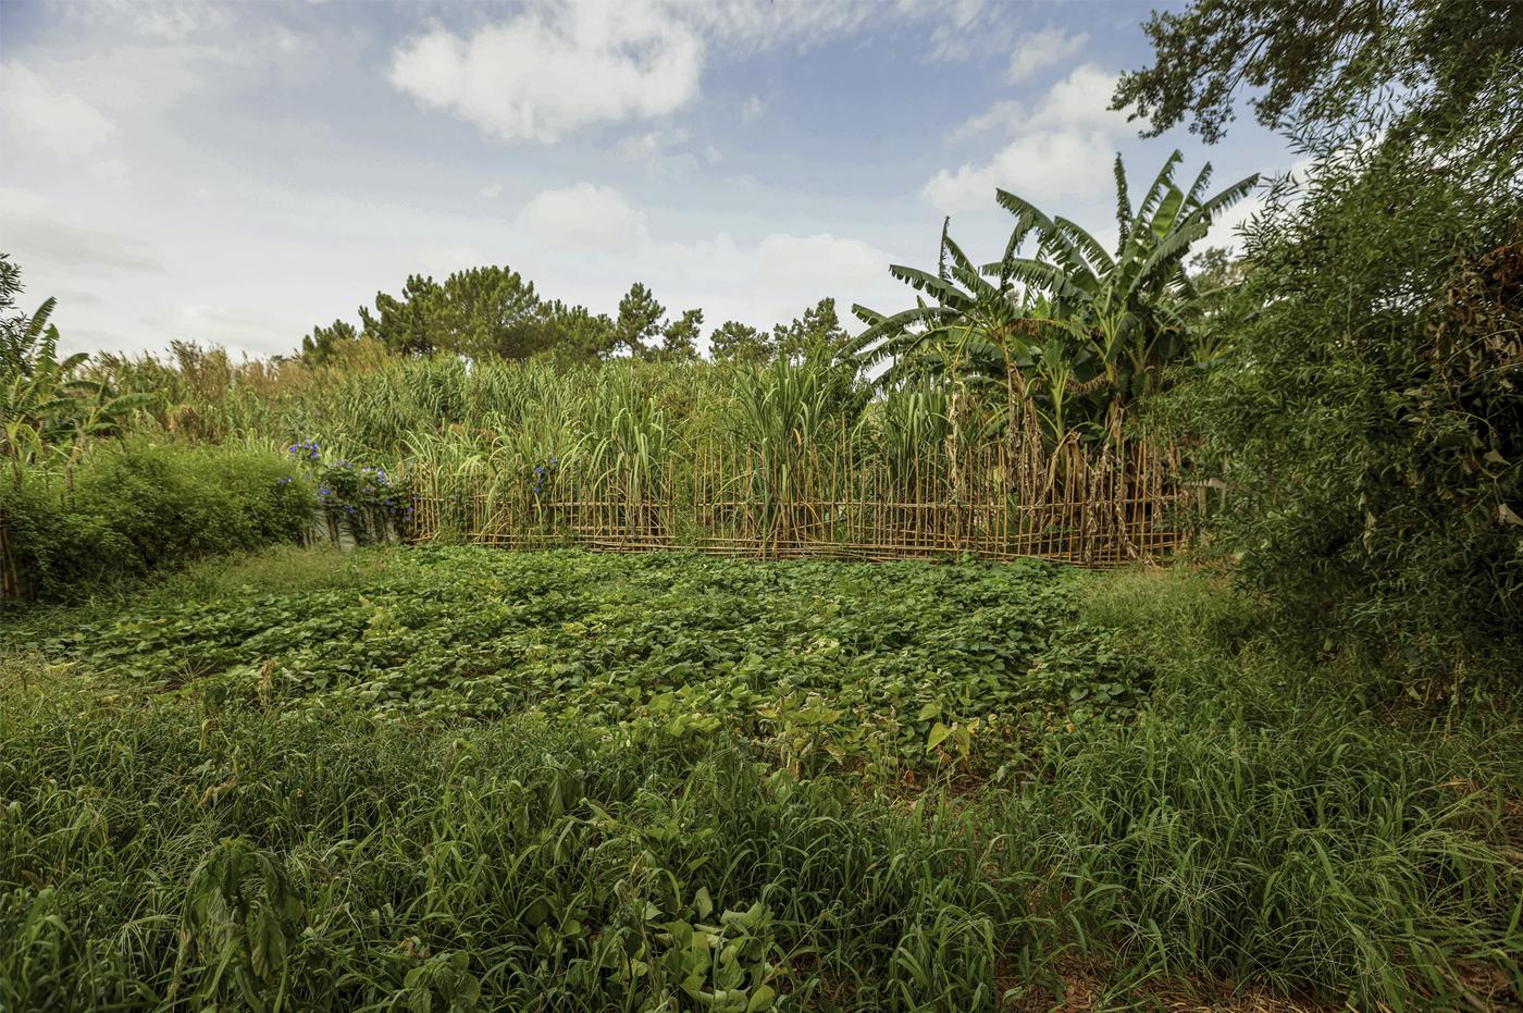
[[[475,484],[416,474],[413,539],[504,548],[694,548],[765,559],[1162,559],[1193,536],[1199,491],[1174,448],[985,443],[908,460],[842,436],[783,448],[694,448],[681,468],[560,466]]]

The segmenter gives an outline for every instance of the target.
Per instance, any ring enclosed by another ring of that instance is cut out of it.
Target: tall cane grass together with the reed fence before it
[[[1086,562],[1177,539],[1153,519],[1180,498],[1157,469],[1141,477],[1115,448],[1010,433],[1007,405],[956,376],[876,390],[825,346],[765,364],[557,367],[385,356],[362,341],[323,366],[231,363],[180,344],[172,363],[108,356],[93,369],[154,395],[136,420],[146,431],[315,440],[323,463],[410,472],[431,501],[423,536]]]

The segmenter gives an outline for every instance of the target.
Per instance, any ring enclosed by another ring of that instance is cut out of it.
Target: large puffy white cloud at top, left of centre
[[[503,140],[669,114],[698,96],[704,43],[650,3],[536,8],[469,37],[436,26],[399,47],[391,84]]]

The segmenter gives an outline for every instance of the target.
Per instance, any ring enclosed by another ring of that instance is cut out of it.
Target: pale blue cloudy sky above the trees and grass
[[[996,187],[1110,244],[1118,152],[1133,193],[1176,148],[1217,186],[1292,165],[1249,119],[1208,149],[1107,111],[1151,6],[0,0],[0,250],[69,352],[288,353],[486,264],[705,331],[903,309],[943,216],[998,259]]]

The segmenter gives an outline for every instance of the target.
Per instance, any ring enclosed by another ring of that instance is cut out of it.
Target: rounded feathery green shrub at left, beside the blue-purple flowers
[[[34,472],[0,487],[11,550],[44,600],[300,541],[312,509],[279,454],[149,442],[97,446],[69,478]]]

